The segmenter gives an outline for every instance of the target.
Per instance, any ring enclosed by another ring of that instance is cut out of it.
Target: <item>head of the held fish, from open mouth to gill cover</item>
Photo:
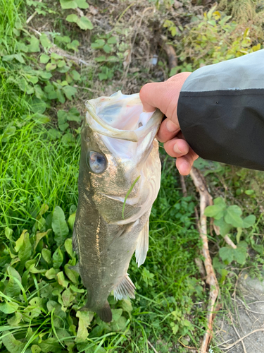
[[[144,207],[144,212],[151,207],[158,193],[161,167],[153,148],[158,148],[155,136],[163,114],[159,110],[143,112],[138,94],[122,95],[120,91],[89,100],[86,107],[80,178],[89,186],[94,205],[106,222],[132,222]]]

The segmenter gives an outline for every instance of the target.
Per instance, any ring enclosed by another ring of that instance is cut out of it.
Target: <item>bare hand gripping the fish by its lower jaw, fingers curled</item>
[[[165,114],[166,119],[161,123],[157,138],[164,142],[168,155],[177,158],[176,167],[182,175],[191,172],[192,164],[199,157],[184,139],[177,117],[180,90],[190,74],[178,73],[165,82],[146,83],[139,92],[145,112],[158,108]]]

